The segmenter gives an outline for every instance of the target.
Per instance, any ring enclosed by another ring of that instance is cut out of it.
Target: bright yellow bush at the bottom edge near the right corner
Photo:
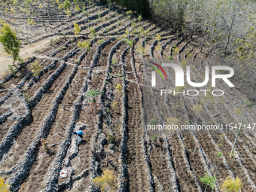
[[[230,175],[227,176],[224,183],[221,185],[221,191],[239,192],[242,189],[241,179],[231,178]]]

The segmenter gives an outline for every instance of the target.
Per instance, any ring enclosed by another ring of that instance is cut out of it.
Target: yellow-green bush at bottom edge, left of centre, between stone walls
[[[112,192],[117,188],[117,176],[114,175],[114,171],[105,169],[101,176],[97,176],[93,179],[93,184],[99,187],[102,192]]]

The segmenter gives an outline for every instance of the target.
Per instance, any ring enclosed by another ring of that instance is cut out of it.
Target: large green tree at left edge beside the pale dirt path
[[[13,65],[19,58],[21,42],[16,36],[16,32],[11,30],[11,27],[6,23],[1,23],[2,29],[0,29],[0,42],[3,44],[5,52],[11,55],[14,59]],[[16,67],[16,66],[15,66]],[[16,67],[17,68],[17,67]]]

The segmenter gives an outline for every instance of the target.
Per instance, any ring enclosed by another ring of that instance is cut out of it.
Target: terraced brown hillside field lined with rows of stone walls
[[[18,32],[23,44],[40,44],[49,37],[57,40],[33,53],[15,75],[0,81],[0,177],[11,191],[96,191],[93,179],[105,169],[117,176],[116,191],[204,191],[200,177],[205,173],[216,176],[217,191],[228,175],[242,179],[242,191],[256,190],[254,130],[242,130],[232,157],[235,130],[204,134],[147,130],[153,119],[241,123],[243,114],[235,111],[245,111],[241,105],[246,96],[223,81],[215,90],[224,90],[224,96],[206,101],[182,94],[160,97],[166,83],[175,84],[175,73],[167,67],[168,82],[157,81],[160,88],[151,86],[148,61],[170,62],[171,56],[179,66],[184,61],[190,66],[194,82],[203,81],[207,58],[192,39],[99,3],[87,5],[86,14],[78,11],[68,20],[57,5],[45,11],[38,5],[30,9],[35,10],[32,18],[37,24]],[[25,27],[26,16],[16,15],[19,19],[13,16],[5,22]],[[74,23],[81,27],[79,35],[73,31]],[[133,41],[132,46],[124,37]],[[78,47],[79,41],[90,41],[90,51]],[[42,67],[37,77],[32,75],[32,62]],[[93,104],[85,99],[94,89],[102,92],[96,97],[96,118]],[[197,105],[203,111],[195,112]],[[247,108],[243,123],[255,119],[256,109]],[[84,138],[78,154],[70,157],[78,127],[84,127]],[[44,152],[42,139],[47,139],[50,154]],[[61,169],[67,169],[66,178],[59,177]]]

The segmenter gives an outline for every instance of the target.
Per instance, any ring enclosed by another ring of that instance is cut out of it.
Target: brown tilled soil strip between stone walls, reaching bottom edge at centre
[[[148,191],[148,178],[142,156],[142,120],[139,89],[135,83],[127,84],[128,92],[128,157],[129,191]]]

